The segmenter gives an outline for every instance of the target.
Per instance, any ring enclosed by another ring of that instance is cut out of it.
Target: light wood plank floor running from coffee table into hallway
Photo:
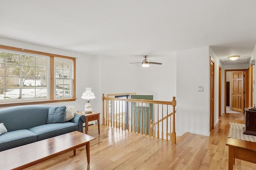
[[[228,170],[226,139],[230,121],[244,121],[243,114],[225,114],[210,137],[185,133],[177,143],[100,126],[90,125],[90,165],[84,147],[34,165],[30,170]],[[236,159],[234,170],[256,170],[256,164]]]

